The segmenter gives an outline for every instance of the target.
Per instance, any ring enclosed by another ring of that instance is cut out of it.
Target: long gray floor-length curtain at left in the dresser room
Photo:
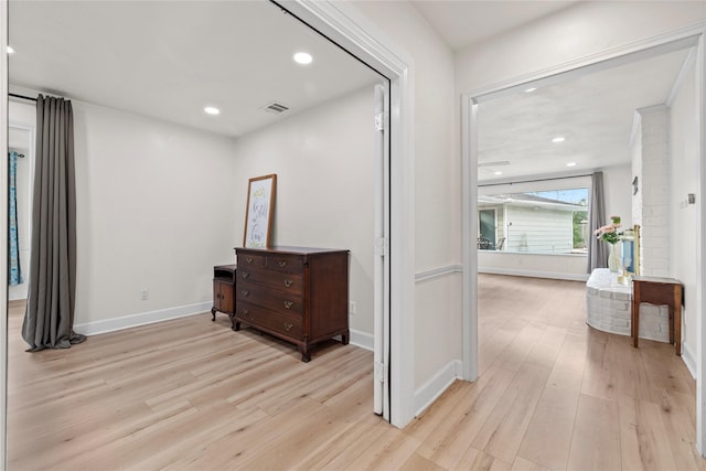
[[[22,338],[30,351],[67,349],[74,333],[76,191],[71,101],[40,95],[32,205],[30,285]]]

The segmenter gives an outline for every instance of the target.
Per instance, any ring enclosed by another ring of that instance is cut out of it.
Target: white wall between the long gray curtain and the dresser
[[[76,331],[206,311],[213,266],[235,260],[232,140],[72,104]],[[140,299],[142,289],[149,300]],[[131,314],[140,315],[126,318]]]

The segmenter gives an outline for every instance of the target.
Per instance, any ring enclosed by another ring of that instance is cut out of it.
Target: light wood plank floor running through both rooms
[[[372,410],[372,354],[309,364],[227,318],[25,353],[11,306],[10,470],[696,470],[695,383],[671,345],[585,324],[585,285],[481,276],[481,376],[405,430]]]

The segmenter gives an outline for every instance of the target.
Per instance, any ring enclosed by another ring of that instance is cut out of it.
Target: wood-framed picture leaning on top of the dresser
[[[247,184],[245,234],[243,235],[244,247],[269,247],[272,245],[276,190],[276,174],[249,180]]]

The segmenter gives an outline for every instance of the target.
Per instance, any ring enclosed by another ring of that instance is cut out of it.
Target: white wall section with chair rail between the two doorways
[[[415,159],[416,173],[415,266],[418,278],[432,270],[441,272],[417,281],[415,317],[409,321],[415,331],[419,409],[429,394],[438,393],[439,377],[461,356],[461,276],[454,269],[461,259],[461,172],[453,56],[411,4],[350,4],[414,61],[415,154],[409,158]]]

